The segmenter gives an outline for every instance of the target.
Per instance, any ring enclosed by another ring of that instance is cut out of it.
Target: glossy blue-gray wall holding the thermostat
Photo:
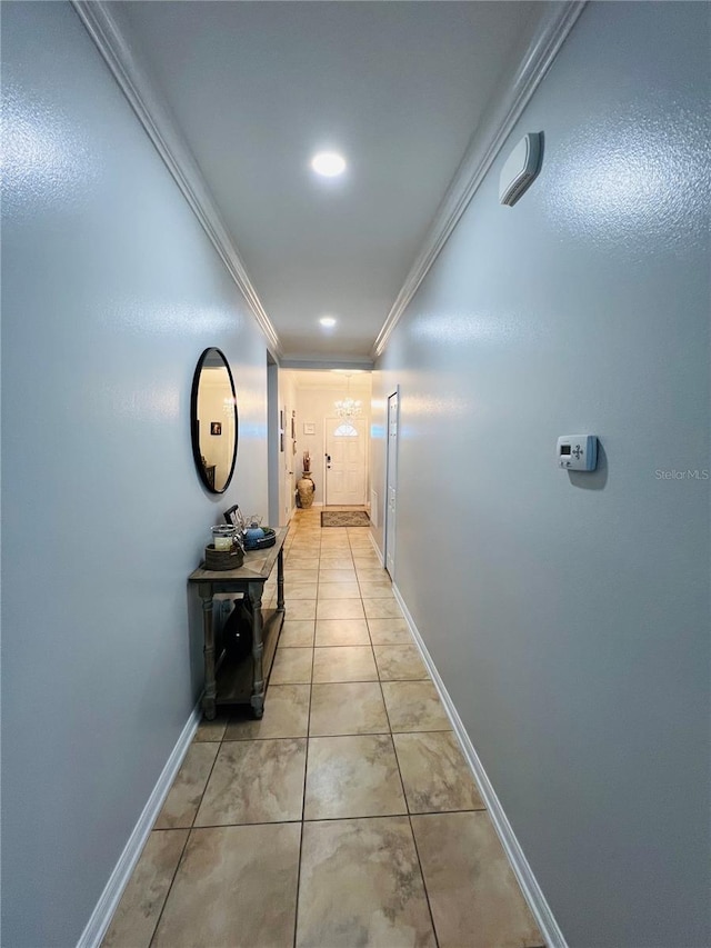
[[[397,583],[577,948],[711,941],[710,481],[657,473],[711,468],[708,14],[585,9],[375,377]]]

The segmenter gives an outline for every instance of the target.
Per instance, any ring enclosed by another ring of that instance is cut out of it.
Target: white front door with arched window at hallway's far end
[[[326,419],[326,502],[365,502],[365,420]]]

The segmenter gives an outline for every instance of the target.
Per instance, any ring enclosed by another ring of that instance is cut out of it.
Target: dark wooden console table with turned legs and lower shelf
[[[204,696],[202,710],[213,720],[218,705],[249,703],[256,718],[264,712],[264,682],[269,677],[277,649],[277,640],[284,621],[284,562],[283,546],[288,527],[277,530],[277,542],[266,550],[244,553],[239,569],[222,572],[199,567],[190,573],[188,582],[198,585],[202,599],[202,629],[204,636]],[[264,583],[277,563],[277,608],[262,610]],[[252,607],[252,660],[239,663],[224,660],[218,666],[214,653],[212,599],[218,592],[242,592]]]

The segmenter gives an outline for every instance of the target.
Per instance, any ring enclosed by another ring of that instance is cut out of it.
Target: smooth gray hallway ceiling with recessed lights
[[[279,338],[368,361],[535,2],[118,2]],[[340,151],[338,179],[313,174]],[[336,317],[331,330],[321,316]]]

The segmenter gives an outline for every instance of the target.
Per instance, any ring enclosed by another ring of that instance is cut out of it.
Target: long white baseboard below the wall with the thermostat
[[[371,535],[372,538],[372,535]],[[424,661],[428,671],[432,676],[432,681],[434,682],[434,687],[437,688],[440,698],[442,699],[442,703],[444,705],[444,710],[447,711],[447,716],[452,722],[452,728],[454,729],[454,735],[457,736],[467,762],[469,764],[472,774],[474,775],[474,779],[477,780],[477,786],[479,787],[479,792],[481,798],[489,811],[489,816],[491,817],[491,821],[493,824],[494,829],[501,840],[501,845],[503,847],[504,852],[509,858],[509,862],[511,864],[511,868],[517,877],[519,886],[521,887],[521,891],[523,892],[523,898],[527,900],[529,908],[533,912],[533,917],[538,924],[538,927],[541,929],[541,935],[545,940],[547,948],[568,948],[568,944],[563,937],[563,932],[560,930],[558,922],[553,916],[553,912],[550,909],[545,900],[545,896],[541,887],[539,886],[533,870],[531,869],[528,859],[523,850],[521,849],[521,845],[519,840],[515,838],[511,824],[509,822],[505,812],[503,811],[503,807],[501,806],[499,798],[497,797],[495,790],[493,789],[489,777],[487,776],[487,771],[483,768],[481,760],[479,759],[479,755],[474,750],[474,746],[471,742],[471,738],[467,734],[464,729],[464,725],[462,724],[459,714],[457,712],[457,708],[452,702],[452,699],[444,687],[442,679],[437,670],[432,658],[427,650],[427,646],[422,640],[422,636],[420,635],[418,627],[414,625],[414,620],[410,615],[408,607],[404,603],[404,600],[400,593],[398,587],[393,583],[392,591],[394,592],[395,599],[400,603],[400,608],[402,609],[402,615],[404,616],[405,622],[410,627],[410,631],[412,632],[412,637],[415,641],[418,649],[422,656],[422,660]]]

